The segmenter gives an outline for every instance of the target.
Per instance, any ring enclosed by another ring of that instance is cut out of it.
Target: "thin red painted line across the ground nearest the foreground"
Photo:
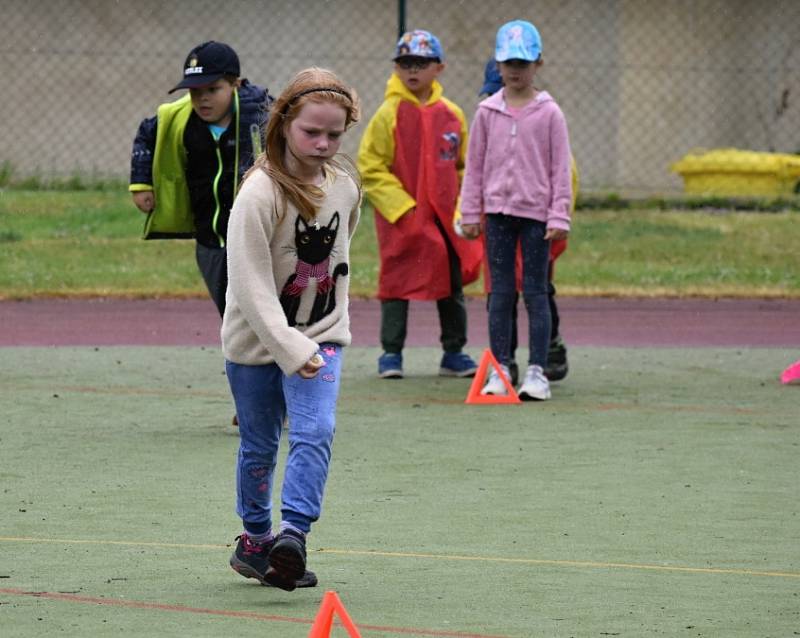
[[[158,611],[177,611],[190,614],[208,614],[211,616],[227,616],[229,618],[247,618],[250,620],[266,620],[275,622],[288,622],[300,625],[312,625],[313,619],[293,618],[291,616],[277,616],[261,614],[254,611],[231,611],[227,609],[208,609],[206,607],[186,607],[184,605],[168,605],[165,603],[149,603],[141,600],[119,600],[116,598],[96,598],[94,596],[77,596],[75,594],[62,594],[49,591],[25,591],[24,589],[2,588],[0,594],[11,596],[29,596],[31,598],[47,598],[71,603],[86,605],[107,605],[109,607],[129,607],[132,609],[154,609]],[[470,634],[459,631],[439,631],[436,629],[411,629],[407,627],[390,627],[381,625],[357,625],[362,631],[379,631],[391,634],[409,636],[433,636],[435,638],[508,638],[490,634]]]

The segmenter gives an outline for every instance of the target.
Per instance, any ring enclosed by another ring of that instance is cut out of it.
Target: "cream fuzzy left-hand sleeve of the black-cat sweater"
[[[273,274],[270,241],[275,231],[275,193],[263,171],[245,180],[228,226],[228,294],[259,341],[287,375],[314,356],[317,344],[289,326]]]

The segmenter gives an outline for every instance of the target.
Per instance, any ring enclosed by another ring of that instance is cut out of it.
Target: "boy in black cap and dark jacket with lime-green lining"
[[[220,316],[228,285],[225,239],[242,176],[263,146],[272,98],[239,78],[239,57],[227,44],[204,42],[170,91],[189,89],[139,125],[129,190],[147,214],[145,239],[197,241],[200,273]]]

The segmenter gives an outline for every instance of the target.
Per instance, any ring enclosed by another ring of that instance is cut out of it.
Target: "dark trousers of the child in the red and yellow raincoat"
[[[461,260],[447,241],[450,265],[449,297],[436,300],[439,311],[440,341],[445,352],[461,352],[467,343],[467,306],[461,281]],[[381,345],[385,352],[400,354],[406,343],[408,299],[385,299],[381,302]]]

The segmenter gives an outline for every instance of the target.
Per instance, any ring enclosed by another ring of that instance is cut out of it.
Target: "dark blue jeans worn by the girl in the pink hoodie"
[[[511,361],[512,316],[516,300],[514,263],[522,249],[522,297],[528,310],[528,365],[547,365],[550,305],[547,269],[550,242],[543,222],[512,215],[486,215],[486,255],[492,280],[489,298],[489,345],[503,365]]]

